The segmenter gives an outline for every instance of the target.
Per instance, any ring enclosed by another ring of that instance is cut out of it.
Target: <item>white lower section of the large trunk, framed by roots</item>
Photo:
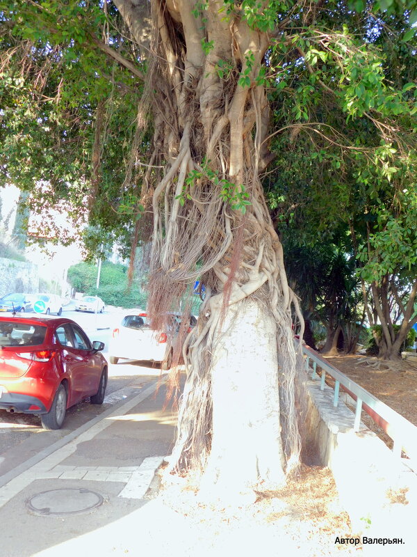
[[[213,439],[202,489],[239,494],[284,481],[276,338],[272,313],[246,300],[231,306],[216,333]]]

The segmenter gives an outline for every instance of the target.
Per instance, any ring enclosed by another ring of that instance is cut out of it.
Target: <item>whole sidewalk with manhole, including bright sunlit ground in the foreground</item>
[[[190,491],[174,492],[174,505],[146,496],[175,435],[175,413],[161,410],[164,379],[155,379],[0,476],[0,557],[415,555],[414,544],[336,547],[343,525],[328,533],[304,512],[312,507],[281,499],[260,512],[211,508]]]

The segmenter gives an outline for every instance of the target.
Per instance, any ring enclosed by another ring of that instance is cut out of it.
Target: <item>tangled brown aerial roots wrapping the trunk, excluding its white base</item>
[[[245,299],[261,304],[277,327],[277,405],[290,471],[300,455],[295,382],[301,366],[293,347],[292,306],[300,323],[302,315],[288,288],[281,243],[259,182],[259,167],[268,157],[266,94],[263,86],[238,84],[240,70],[256,82],[268,41],[259,31],[240,28],[238,19],[225,24],[219,15],[206,30],[219,31],[209,54],[199,53],[201,40],[189,52],[184,36],[199,36],[204,24],[181,19],[175,6],[152,2],[156,33],[145,95],[158,122],[153,152],[165,160],[152,199],[152,326],[166,326],[167,312],[179,310],[196,280],[204,283],[207,294],[197,326],[190,334],[183,331],[187,377],[170,471],[204,469],[211,448],[215,339],[229,308]],[[232,61],[226,80],[214,71],[225,57]],[[157,157],[154,162],[158,164]],[[244,211],[236,208],[242,199],[250,203]]]

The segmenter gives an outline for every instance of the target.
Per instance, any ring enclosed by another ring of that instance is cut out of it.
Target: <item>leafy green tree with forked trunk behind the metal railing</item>
[[[339,17],[347,22],[343,10]],[[328,36],[315,30],[280,53],[287,63],[281,64],[272,104],[280,107],[272,145],[275,170],[265,184],[282,237],[295,235],[300,246],[313,249],[345,238],[345,250],[357,257],[368,322],[382,324],[380,356],[395,359],[417,319],[411,226],[417,219],[416,63],[408,42],[414,41],[414,30],[394,15],[385,22],[369,15],[355,29],[363,49],[350,42],[345,24],[336,52],[329,52]],[[338,49],[345,54],[334,65]],[[298,126],[291,125],[294,120]],[[405,277],[408,306],[398,304],[387,288]],[[396,331],[390,296],[401,315]]]

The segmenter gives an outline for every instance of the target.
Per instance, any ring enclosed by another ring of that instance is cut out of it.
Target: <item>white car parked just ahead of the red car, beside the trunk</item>
[[[173,343],[177,338],[183,316],[170,313],[167,331],[152,331],[147,313],[125,315],[119,327],[113,330],[108,352],[110,363],[120,359],[146,360],[161,362],[161,368],[172,366]],[[189,327],[196,323],[194,315],[189,316]]]

